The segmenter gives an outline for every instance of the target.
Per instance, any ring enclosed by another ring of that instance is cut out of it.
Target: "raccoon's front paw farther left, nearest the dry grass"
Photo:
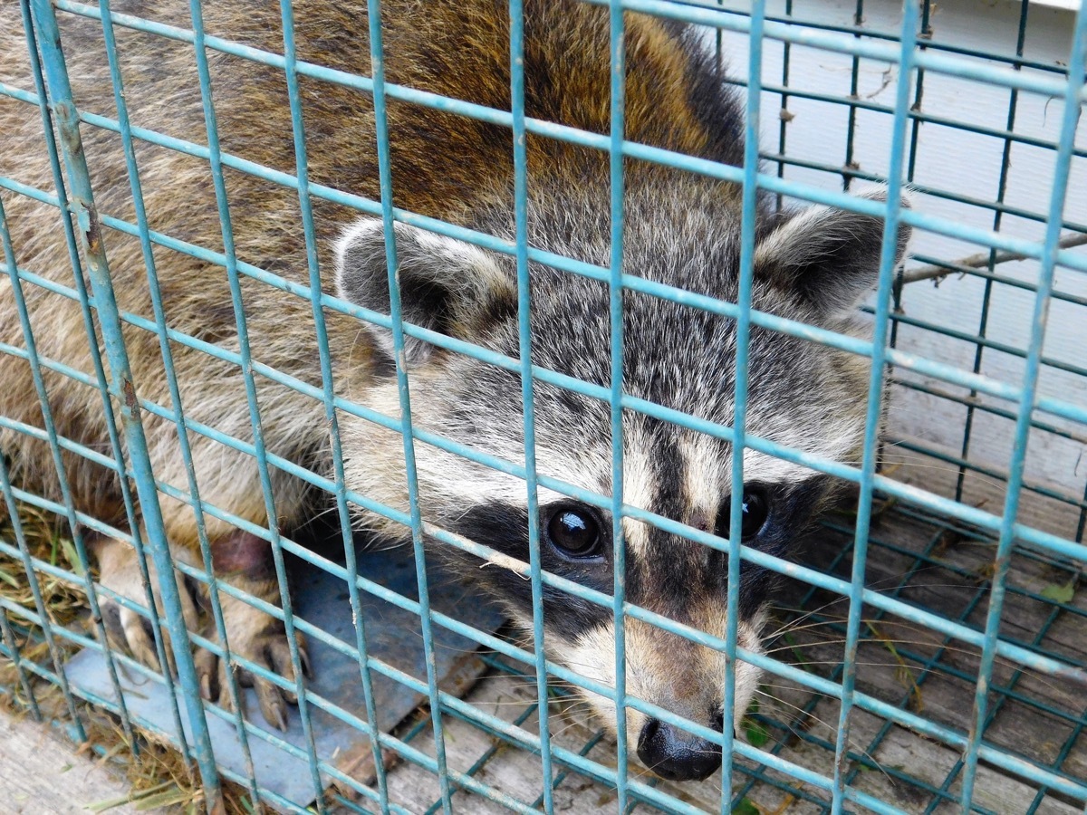
[[[99,582],[110,591],[147,609],[147,591],[140,579],[139,561],[132,544],[116,538],[99,537],[91,541],[91,549],[98,559]],[[155,611],[159,618],[162,619],[163,609],[159,591],[159,575],[150,561],[148,561],[147,566]],[[174,579],[178,589],[185,627],[189,631],[198,631],[200,630],[199,614],[189,590],[189,584],[176,573]],[[154,629],[151,619],[104,594],[99,595],[99,605],[109,645],[130,653],[143,665],[162,673],[163,666],[154,647]],[[174,654],[171,650],[170,636],[165,630],[162,631],[162,638],[168,663],[166,668],[171,674],[174,674]],[[207,657],[202,662],[207,663]],[[204,669],[208,669],[207,664]],[[212,664],[211,670],[214,670],[214,664]]]

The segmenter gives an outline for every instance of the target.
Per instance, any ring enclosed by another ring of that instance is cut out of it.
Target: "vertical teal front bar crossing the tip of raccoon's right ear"
[[[902,3],[898,87],[895,92],[895,125],[891,134],[890,162],[887,172],[887,211],[879,254],[879,285],[876,290],[875,325],[872,337],[872,367],[869,377],[867,411],[864,417],[864,450],[861,462],[861,489],[857,505],[857,531],[853,539],[853,566],[850,577],[849,615],[846,624],[842,660],[841,709],[835,743],[832,815],[840,815],[846,801],[846,776],[849,772],[850,714],[857,681],[857,650],[860,639],[861,600],[867,568],[869,530],[872,523],[873,476],[878,460],[879,429],[883,419],[884,366],[890,323],[890,294],[895,278],[895,253],[898,248],[899,216],[902,208],[902,171],[905,131],[910,110],[910,79],[917,46],[917,0]]]

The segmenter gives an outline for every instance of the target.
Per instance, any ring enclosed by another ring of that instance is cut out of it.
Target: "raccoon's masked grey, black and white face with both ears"
[[[875,193],[876,198],[879,193]],[[624,268],[676,288],[735,302],[739,223],[710,203],[670,206],[633,196],[626,208]],[[883,223],[825,208],[766,216],[755,252],[754,308],[836,330],[863,330],[853,310],[874,285]],[[548,231],[550,227],[552,231]],[[508,225],[490,224],[501,233]],[[607,265],[607,210],[534,211],[533,246]],[[899,236],[898,254],[907,235]],[[512,261],[467,243],[397,226],[404,318],[415,325],[517,359],[516,285]],[[340,296],[388,313],[380,222],[362,221],[338,247]],[[604,283],[534,265],[532,359],[542,368],[610,386],[609,291]],[[372,329],[377,353],[391,338]],[[523,467],[524,416],[520,373],[407,338],[413,423],[486,456]],[[623,392],[730,426],[734,421],[735,323],[721,315],[630,290],[623,297]],[[747,429],[819,457],[853,462],[864,429],[866,361],[753,327],[750,336]],[[400,415],[391,364],[349,396],[389,416]],[[534,381],[537,471],[603,497],[612,493],[611,413],[597,396]],[[352,489],[408,509],[399,434],[351,419],[345,426]],[[623,415],[623,500],[694,529],[727,538],[733,452],[728,443],[635,410]],[[525,481],[416,439],[423,518],[528,561]],[[811,469],[750,449],[744,459],[744,522],[748,547],[785,555],[828,494]],[[588,503],[538,489],[540,560],[546,572],[595,589],[613,589],[614,524],[609,501]],[[405,530],[376,515],[361,518],[380,535]],[[724,638],[727,554],[680,535],[624,517],[626,599]],[[528,580],[435,543],[530,629]],[[740,570],[739,644],[759,652],[772,573],[745,562]],[[612,607],[544,588],[546,650],[574,672],[614,687]],[[724,654],[639,619],[625,620],[627,693],[720,730]],[[752,665],[736,667],[736,715],[759,681]],[[615,707],[598,694],[586,701],[614,728]],[[659,775],[704,778],[720,748],[660,719],[626,709],[632,751]]]

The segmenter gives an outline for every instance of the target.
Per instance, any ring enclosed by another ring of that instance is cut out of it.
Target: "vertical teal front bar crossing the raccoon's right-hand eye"
[[[747,426],[751,294],[754,279],[754,236],[759,215],[759,114],[762,110],[762,47],[766,3],[751,9],[748,41],[748,92],[744,123],[744,189],[740,210],[740,274],[736,304],[736,373],[733,397],[732,498],[728,502],[728,581],[726,593],[724,704],[722,705],[721,811],[733,808],[733,740],[736,722],[736,647],[739,637],[740,529],[744,525],[744,450]]]

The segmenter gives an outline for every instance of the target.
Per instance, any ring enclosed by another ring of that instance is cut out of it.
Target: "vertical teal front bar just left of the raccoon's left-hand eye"
[[[536,482],[536,412],[533,405],[532,284],[528,275],[528,143],[525,130],[525,10],[510,0],[510,99],[513,115],[513,211],[516,229],[517,329],[521,403],[524,412],[525,486],[528,506],[528,564],[533,591],[533,655],[544,772],[544,812],[554,812],[551,727],[548,715],[547,657],[544,650],[544,584],[540,572],[539,491]]]

